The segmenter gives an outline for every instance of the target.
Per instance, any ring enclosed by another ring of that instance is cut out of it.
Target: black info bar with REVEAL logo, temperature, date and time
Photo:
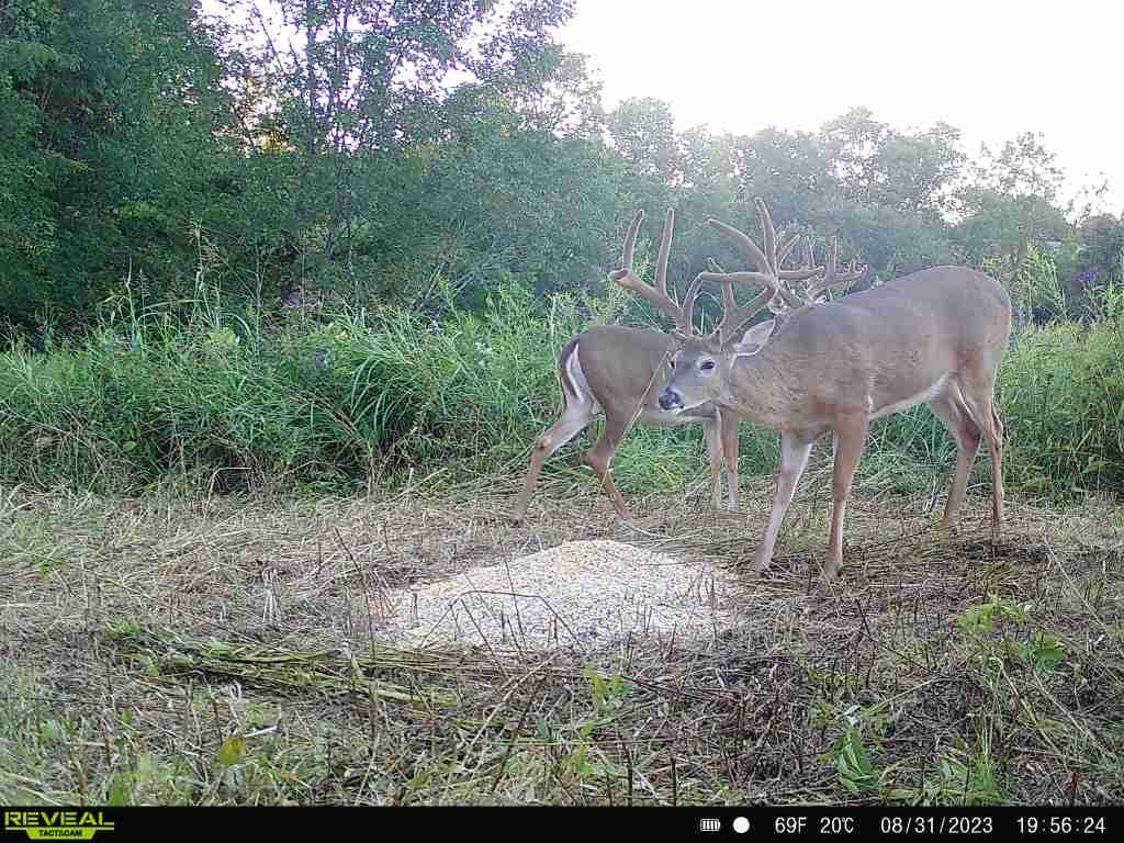
[[[3,807],[3,840],[97,840],[119,843],[169,834],[250,835],[278,839],[461,840],[480,830],[489,841],[532,841],[545,831],[587,840],[754,840],[901,837],[996,837],[1023,840],[1116,839],[1121,808],[1106,807]]]

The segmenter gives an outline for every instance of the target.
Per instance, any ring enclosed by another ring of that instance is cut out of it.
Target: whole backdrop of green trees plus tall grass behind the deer
[[[1124,489],[1124,220],[1089,206],[1070,223],[1041,137],[970,161],[954,127],[899,132],[863,108],[751,136],[681,129],[655,99],[605,115],[555,39],[570,0],[386,6],[0,4],[0,475],[514,471],[556,413],[569,337],[664,325],[605,281],[631,212],[650,265],[677,209],[681,294],[711,259],[743,263],[706,220],[760,234],[761,196],[821,260],[839,235],[879,280],[953,262],[997,277],[1021,328],[1000,373],[1008,484]],[[292,39],[261,37],[281,21]],[[294,291],[314,318],[278,315]],[[699,438],[635,429],[618,484],[682,484],[705,469]],[[741,442],[743,469],[772,471],[774,434]],[[953,460],[916,408],[874,426],[861,471],[917,492]]]

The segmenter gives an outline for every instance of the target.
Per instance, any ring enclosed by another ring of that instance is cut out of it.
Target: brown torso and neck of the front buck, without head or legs
[[[950,381],[962,388],[969,369],[994,372],[1009,312],[1006,291],[982,273],[923,270],[795,311],[760,351],[734,357],[718,391],[695,395],[780,430],[826,432],[840,415],[872,422],[945,395]]]

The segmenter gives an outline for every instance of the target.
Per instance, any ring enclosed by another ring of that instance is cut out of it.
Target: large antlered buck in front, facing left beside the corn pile
[[[687,326],[672,359],[673,372],[660,395],[668,411],[713,404],[740,419],[777,429],[781,462],[772,514],[758,546],[753,570],[772,561],[773,546],[813,444],[834,436],[832,519],[826,579],[843,563],[843,516],[852,480],[872,420],[927,401],[957,442],[957,469],[942,525],[949,525],[964,497],[968,474],[986,438],[992,461],[992,529],[1003,523],[1003,423],[995,407],[998,366],[1010,336],[1010,298],[994,279],[964,266],[935,266],[835,301],[804,306],[754,326],[737,344],[740,326],[780,294],[776,234],[769,211],[756,200],[764,252],[745,234],[709,220],[731,236],[756,271],[703,272],[683,297]],[[824,284],[847,280],[835,273],[835,250]],[[725,314],[718,328],[691,330],[691,308],[704,281],[724,284]],[[733,283],[763,291],[735,306]],[[787,297],[785,297],[787,300]]]

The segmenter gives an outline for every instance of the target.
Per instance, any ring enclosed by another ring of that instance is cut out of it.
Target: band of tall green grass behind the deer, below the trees
[[[0,477],[136,491],[170,478],[209,489],[348,490],[413,477],[511,475],[559,410],[558,351],[623,316],[605,299],[536,300],[518,285],[481,316],[441,324],[413,310],[338,308],[328,320],[225,314],[214,297],[185,321],[118,302],[80,345],[0,355]],[[1124,491],[1124,318],[1021,332],[1000,371],[1013,489],[1066,497]],[[597,435],[595,429],[584,434]],[[742,471],[771,472],[777,436],[741,432]],[[954,445],[926,407],[882,419],[861,471],[916,491]],[[552,469],[564,463],[564,452]],[[978,475],[989,473],[986,448]],[[614,464],[623,490],[677,487],[706,471],[701,430],[637,426]],[[588,472],[587,472],[588,473]],[[986,474],[981,477],[987,478]],[[989,478],[987,478],[989,481]]]

